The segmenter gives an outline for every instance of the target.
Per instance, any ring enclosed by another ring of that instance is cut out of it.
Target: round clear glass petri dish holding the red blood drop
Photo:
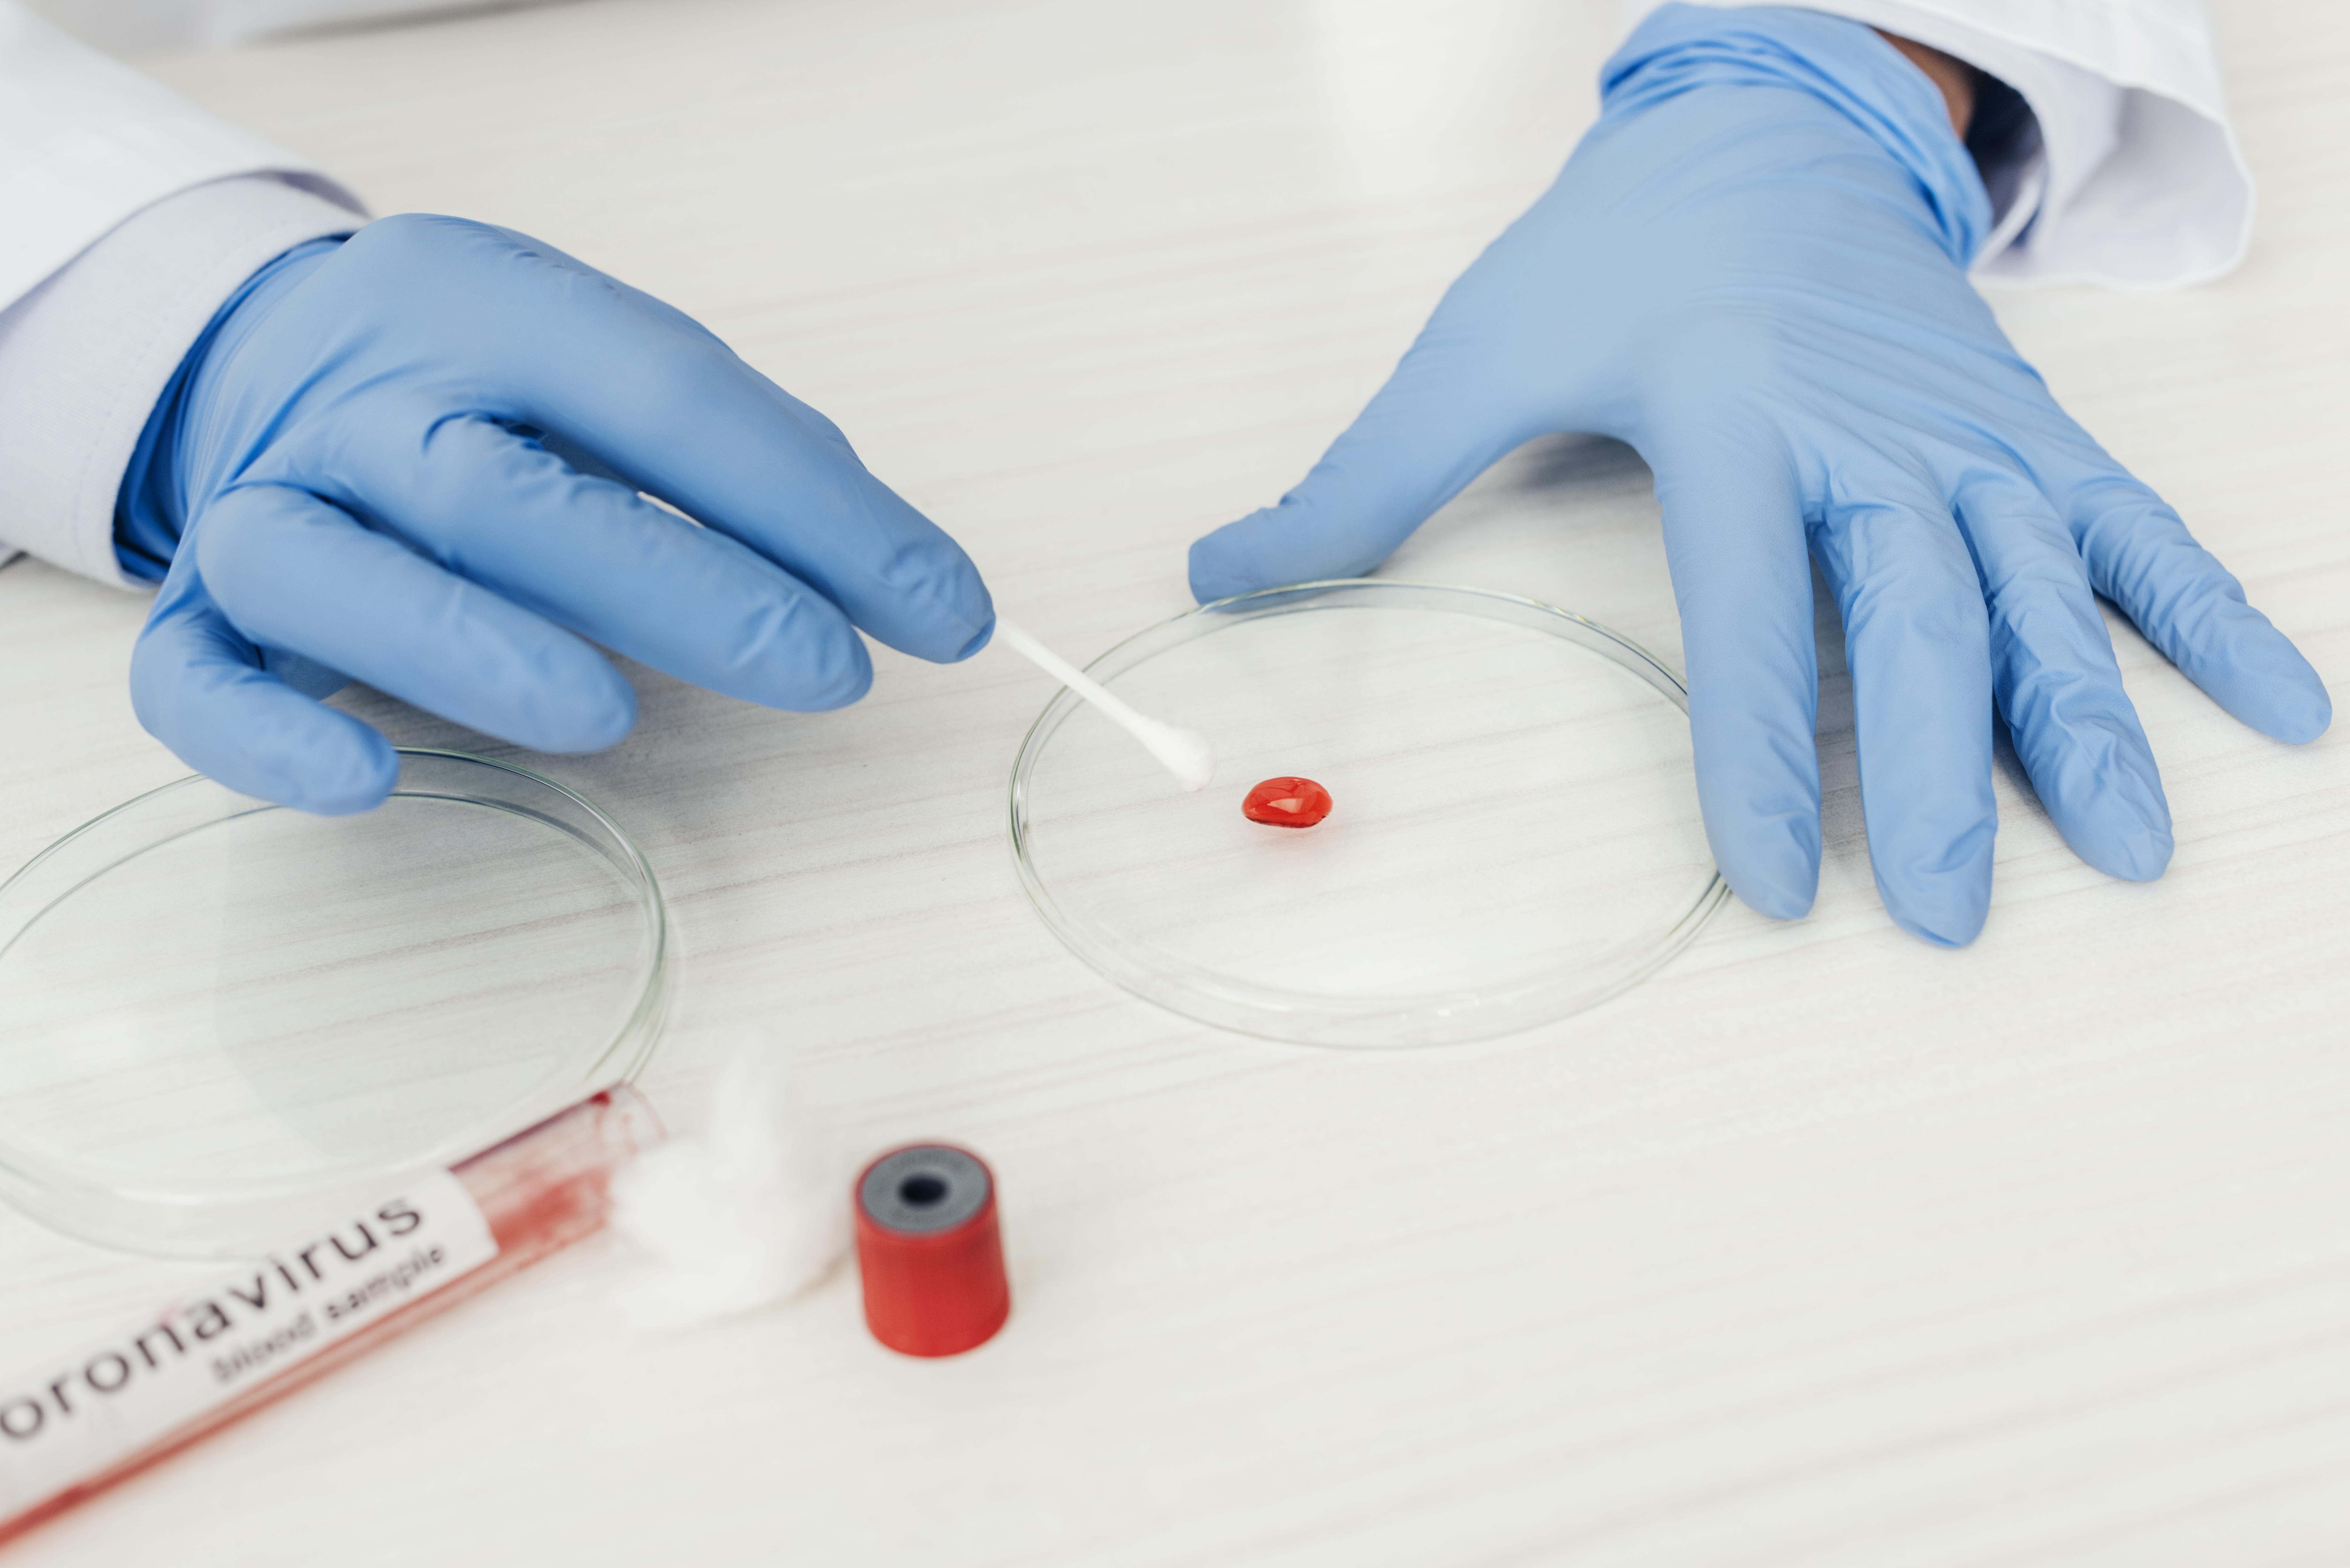
[[[1304,583],[1175,616],[1088,675],[1215,745],[1184,795],[1062,691],[1013,766],[1020,882],[1126,990],[1323,1046],[1488,1039],[1671,959],[1720,907],[1687,691],[1572,611],[1473,588]],[[1250,820],[1267,778],[1330,792]]]

